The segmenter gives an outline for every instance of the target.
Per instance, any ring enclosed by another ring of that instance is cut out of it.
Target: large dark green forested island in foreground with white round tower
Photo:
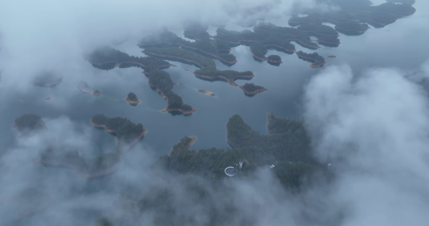
[[[313,159],[310,140],[302,122],[276,118],[268,114],[268,134],[253,131],[239,115],[232,116],[227,122],[227,141],[233,149],[189,150],[193,137],[183,137],[173,146],[169,155],[158,159],[155,165],[179,172],[203,175],[213,180],[226,177],[224,169],[239,159],[248,164],[236,176],[266,164],[275,164],[275,175],[284,187],[298,189],[302,177],[311,175],[315,168],[321,167]]]

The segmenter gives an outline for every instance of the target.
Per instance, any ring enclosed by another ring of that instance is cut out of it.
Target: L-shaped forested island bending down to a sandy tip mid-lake
[[[183,115],[190,115],[196,111],[196,109],[192,108],[190,105],[184,104],[182,98],[172,91],[172,86],[175,85],[176,83],[174,83],[171,80],[169,73],[167,73],[166,71],[160,70],[160,69],[165,69],[165,68],[168,68],[169,66],[172,66],[172,64],[170,64],[165,60],[157,59],[153,56],[147,56],[147,57],[130,56],[126,53],[115,50],[114,48],[103,47],[101,49],[100,48],[96,49],[91,54],[91,58],[89,59],[89,62],[94,67],[99,69],[104,69],[104,70],[110,70],[112,68],[115,68],[118,64],[119,64],[118,66],[119,68],[127,68],[127,67],[133,67],[133,66],[143,68],[144,71],[142,73],[145,74],[146,77],[148,77],[149,79],[148,84],[151,87],[155,87],[155,89],[168,102],[168,106],[165,109],[161,110],[162,112],[181,113]],[[97,64],[97,63],[94,64],[94,62],[99,62],[100,64]],[[110,64],[110,66],[107,67],[106,65],[109,64],[109,62],[114,62],[116,63],[116,65],[112,67],[113,64]],[[121,62],[121,63],[118,63],[118,62]],[[80,84],[80,86],[84,87],[82,88],[84,90],[88,89],[88,87],[85,86],[85,84],[83,83]],[[93,92],[93,95],[94,95],[94,92]],[[133,104],[137,104],[137,103],[133,102]]]

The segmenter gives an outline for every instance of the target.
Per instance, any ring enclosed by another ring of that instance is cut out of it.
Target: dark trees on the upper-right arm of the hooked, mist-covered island
[[[141,123],[135,124],[127,118],[108,118],[103,114],[98,114],[92,116],[91,120],[94,124],[104,125],[108,130],[115,131],[118,139],[125,142],[136,139],[143,132]]]

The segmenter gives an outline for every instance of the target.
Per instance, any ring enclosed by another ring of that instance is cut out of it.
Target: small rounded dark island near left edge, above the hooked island
[[[35,114],[24,114],[15,119],[13,128],[18,130],[21,135],[28,135],[31,132],[47,129],[45,121]]]

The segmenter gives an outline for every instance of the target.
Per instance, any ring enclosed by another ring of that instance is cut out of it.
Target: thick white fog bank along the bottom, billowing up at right
[[[213,211],[224,217],[222,225],[429,222],[429,105],[420,85],[390,68],[353,74],[347,65],[332,66],[309,81],[304,103],[304,121],[316,155],[321,162],[332,163],[332,183],[292,195],[273,175],[257,171],[251,178],[225,178],[215,185],[198,176],[154,172],[152,150],[141,145],[127,154],[114,175],[87,181],[69,169],[31,165],[48,137],[82,152],[96,149],[89,125],[65,116],[45,118],[48,131],[21,137],[1,159],[1,225],[17,225],[19,216],[31,213],[23,225],[88,225],[97,216],[124,223],[119,225],[156,225],[159,213],[150,209],[141,213],[132,205],[137,198],[120,195],[126,191],[139,199],[154,199],[149,187],[173,194],[165,202],[175,210],[169,216],[175,225],[188,225],[187,219],[204,225]],[[198,200],[187,190],[195,183],[205,199]],[[28,189],[36,189],[43,198],[20,195]]]

